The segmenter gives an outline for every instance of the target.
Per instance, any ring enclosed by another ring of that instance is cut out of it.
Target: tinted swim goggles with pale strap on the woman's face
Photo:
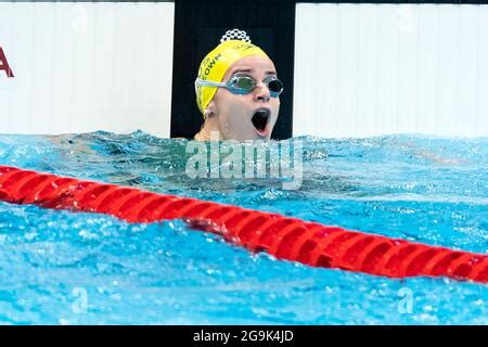
[[[269,89],[271,98],[278,98],[283,91],[283,82],[279,80],[275,76],[269,76],[262,80],[262,83]],[[204,80],[197,78],[195,80],[196,87],[221,87],[226,88],[233,94],[245,95],[251,92],[259,83],[251,76],[247,75],[234,75],[227,82],[215,82],[211,80]]]

